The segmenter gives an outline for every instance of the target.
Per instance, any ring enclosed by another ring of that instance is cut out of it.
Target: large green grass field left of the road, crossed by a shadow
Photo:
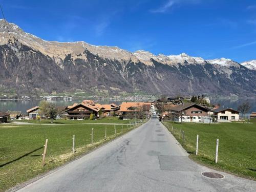
[[[105,121],[124,122],[117,119],[105,119]],[[107,128],[106,140],[104,140],[105,126]],[[92,127],[94,128],[93,145],[91,144]],[[131,130],[127,125],[123,125],[123,132],[121,129],[122,125],[116,125],[115,134],[114,125],[0,124],[0,191],[45,173]],[[75,135],[75,154],[72,153],[73,135]],[[46,165],[42,167],[41,154],[44,151],[46,138],[49,139]]]

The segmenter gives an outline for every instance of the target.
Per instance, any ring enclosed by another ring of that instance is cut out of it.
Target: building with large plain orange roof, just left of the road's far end
[[[122,102],[120,105],[120,118],[121,119],[140,119],[150,117],[150,103],[144,102]]]

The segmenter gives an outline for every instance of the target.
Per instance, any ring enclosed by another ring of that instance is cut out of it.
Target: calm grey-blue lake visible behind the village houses
[[[68,106],[72,105],[73,103],[79,103],[82,100],[53,100],[52,102],[55,103],[57,106]],[[144,100],[138,100],[144,101]],[[243,102],[249,102],[252,106],[251,112],[256,112],[256,98],[210,98],[211,104],[220,104],[225,108],[232,108],[237,110],[238,105]],[[33,106],[38,105],[40,100],[0,100],[0,111],[22,111],[22,113],[26,114],[26,110],[32,108]],[[95,102],[99,102],[101,104],[109,104],[109,103],[116,103],[121,104],[122,101],[114,101],[114,100],[96,100]],[[124,101],[125,102],[125,101]],[[131,102],[131,101],[127,101]]]

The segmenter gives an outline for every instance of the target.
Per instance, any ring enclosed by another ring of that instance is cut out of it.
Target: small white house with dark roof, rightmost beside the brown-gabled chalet
[[[239,120],[239,111],[233,110],[231,108],[218,108],[212,110],[218,121],[232,121]]]

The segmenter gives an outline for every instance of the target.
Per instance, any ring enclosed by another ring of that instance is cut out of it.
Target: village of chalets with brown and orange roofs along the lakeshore
[[[238,121],[240,112],[231,108],[211,105],[207,95],[183,97],[162,97],[154,102],[122,102],[100,104],[94,100],[83,100],[70,106],[57,106],[56,119],[84,120],[118,116],[119,119],[145,119],[152,116],[162,120],[178,122],[230,122]],[[255,118],[253,112],[250,118]],[[0,112],[0,122],[8,119],[41,119],[40,106],[34,106],[23,115],[20,111]]]

